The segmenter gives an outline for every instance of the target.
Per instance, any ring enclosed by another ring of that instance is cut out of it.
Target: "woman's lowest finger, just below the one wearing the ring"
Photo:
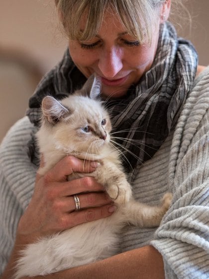
[[[115,205],[104,205],[101,207],[88,208],[65,214],[60,220],[60,231],[72,228],[79,224],[99,220],[110,216],[116,210]]]

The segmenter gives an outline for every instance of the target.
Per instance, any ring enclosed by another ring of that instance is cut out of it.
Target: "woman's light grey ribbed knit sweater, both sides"
[[[26,147],[33,129],[24,117],[0,146],[0,274],[34,188],[37,166]],[[132,187],[141,202],[159,204],[167,191],[173,201],[159,228],[126,226],[121,252],[151,244],[163,256],[166,279],[209,279],[209,67],[195,80],[175,130],[138,167]]]

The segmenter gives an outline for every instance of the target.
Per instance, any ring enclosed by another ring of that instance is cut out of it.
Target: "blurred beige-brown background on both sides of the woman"
[[[209,65],[209,0],[183,0],[192,17],[172,15],[190,39],[202,65]],[[184,18],[183,18],[184,17]],[[179,18],[184,19],[181,24]],[[0,0],[0,141],[23,117],[41,77],[61,58],[67,40],[58,27],[54,0]]]

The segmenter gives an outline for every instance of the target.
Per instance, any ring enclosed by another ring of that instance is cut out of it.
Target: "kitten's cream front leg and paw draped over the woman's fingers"
[[[116,204],[127,203],[131,196],[131,186],[126,179],[126,175],[113,163],[103,163],[96,171],[95,178],[104,188],[109,197]]]

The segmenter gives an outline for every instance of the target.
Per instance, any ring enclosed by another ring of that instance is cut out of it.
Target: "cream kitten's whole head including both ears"
[[[101,81],[92,76],[81,90],[60,102],[46,96],[39,142],[66,153],[100,154],[111,131],[108,113],[97,100],[100,89]]]

